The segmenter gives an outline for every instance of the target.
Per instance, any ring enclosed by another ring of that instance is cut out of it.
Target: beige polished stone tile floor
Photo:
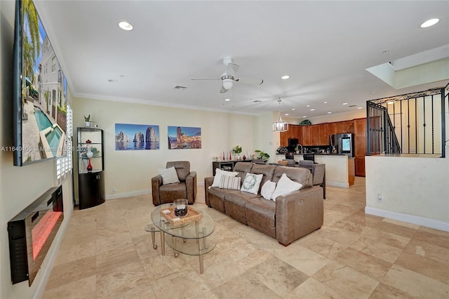
[[[326,195],[321,230],[285,247],[200,188],[217,237],[204,274],[197,256],[152,248],[149,196],[74,211],[43,298],[449,298],[448,232],[366,215],[364,178]]]

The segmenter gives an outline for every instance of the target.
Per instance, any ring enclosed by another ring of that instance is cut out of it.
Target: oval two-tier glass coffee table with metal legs
[[[175,258],[179,253],[199,255],[199,270],[203,274],[203,255],[213,251],[217,244],[216,239],[210,237],[215,231],[215,221],[207,213],[191,206],[187,207],[187,215],[183,217],[175,217],[173,209],[174,204],[161,204],[152,211],[152,222],[161,231],[161,253],[166,254],[167,243],[173,248]]]

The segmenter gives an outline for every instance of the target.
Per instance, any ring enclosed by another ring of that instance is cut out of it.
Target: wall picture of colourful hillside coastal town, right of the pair
[[[201,149],[201,128],[168,126],[168,150]]]

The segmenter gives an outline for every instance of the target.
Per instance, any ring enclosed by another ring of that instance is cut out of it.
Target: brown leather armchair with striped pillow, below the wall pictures
[[[161,175],[152,178],[152,196],[154,206],[168,204],[175,199],[187,199],[193,204],[196,198],[196,171],[190,171],[189,161],[170,161],[166,168],[174,166],[180,182],[162,184]]]

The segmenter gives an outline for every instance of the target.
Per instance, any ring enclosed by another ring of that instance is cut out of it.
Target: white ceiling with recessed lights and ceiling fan
[[[278,111],[281,97],[282,113],[313,118],[447,84],[395,90],[366,69],[448,45],[449,1],[79,0],[36,8],[77,97],[249,114]],[[430,18],[441,20],[420,28]],[[120,29],[121,20],[134,29]],[[220,77],[227,55],[240,65],[236,77],[264,83],[222,94],[220,80],[191,80]]]

